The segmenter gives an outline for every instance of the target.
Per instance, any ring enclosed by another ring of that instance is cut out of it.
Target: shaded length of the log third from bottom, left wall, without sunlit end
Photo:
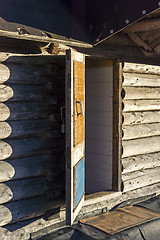
[[[4,161],[1,161],[0,163],[3,165],[3,162]],[[46,178],[50,178],[51,174],[60,171],[60,169],[64,170],[65,167],[64,156],[51,156],[49,152],[47,155],[11,159],[6,160],[6,162],[9,163],[15,171],[12,180],[37,176],[46,176]]]

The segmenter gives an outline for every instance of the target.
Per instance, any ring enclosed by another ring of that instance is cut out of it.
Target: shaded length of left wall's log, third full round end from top
[[[45,102],[6,102],[6,105],[10,109],[10,116],[8,120],[46,118],[50,113],[55,111],[57,112],[54,105],[47,104]]]

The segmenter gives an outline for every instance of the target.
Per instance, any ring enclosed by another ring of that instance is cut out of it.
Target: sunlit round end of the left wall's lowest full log
[[[10,223],[12,220],[12,213],[3,205],[0,205],[0,226],[4,226],[8,223]]]

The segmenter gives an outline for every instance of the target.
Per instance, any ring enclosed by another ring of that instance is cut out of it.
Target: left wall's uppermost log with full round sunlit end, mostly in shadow
[[[2,64],[1,64],[2,65]],[[64,74],[58,76],[57,70],[55,70],[55,65],[22,65],[22,64],[11,64],[7,63],[4,67],[1,76],[0,83],[7,80],[7,83],[21,83],[21,84],[40,84],[53,82],[55,79],[64,79]],[[56,67],[57,68],[57,67]],[[1,69],[1,66],[0,66]],[[57,74],[57,76],[56,76]]]

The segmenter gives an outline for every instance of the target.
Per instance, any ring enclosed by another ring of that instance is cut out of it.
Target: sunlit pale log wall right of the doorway
[[[122,190],[160,182],[160,67],[124,63]]]

